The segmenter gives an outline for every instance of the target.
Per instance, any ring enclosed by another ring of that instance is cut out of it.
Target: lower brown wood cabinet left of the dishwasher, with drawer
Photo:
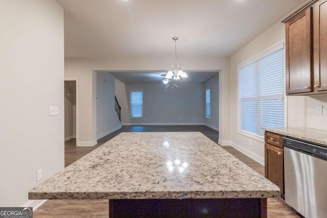
[[[265,132],[265,177],[281,188],[284,198],[283,136]]]

